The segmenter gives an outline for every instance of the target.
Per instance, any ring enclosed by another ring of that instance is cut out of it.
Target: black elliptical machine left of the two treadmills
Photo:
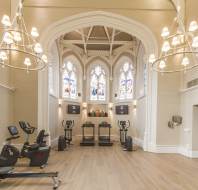
[[[74,127],[74,120],[63,120],[62,127],[64,128],[65,135],[58,138],[58,151],[65,150],[69,145],[72,145],[72,130]]]

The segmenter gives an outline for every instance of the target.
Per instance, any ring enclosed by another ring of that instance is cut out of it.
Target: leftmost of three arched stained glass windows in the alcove
[[[70,61],[63,65],[63,98],[77,98],[76,67]]]

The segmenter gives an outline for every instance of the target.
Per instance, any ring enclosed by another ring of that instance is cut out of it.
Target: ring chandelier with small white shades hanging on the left
[[[0,42],[0,65],[14,69],[29,71],[39,71],[47,65],[47,56],[43,54],[43,49],[37,38],[39,33],[37,28],[32,27],[29,34],[23,18],[23,1],[20,1],[17,12],[12,20],[4,15],[3,35]],[[12,63],[12,56],[17,56],[18,63]]]

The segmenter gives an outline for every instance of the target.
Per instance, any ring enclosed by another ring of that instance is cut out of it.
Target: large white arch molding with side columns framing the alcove
[[[50,57],[53,42],[61,35],[92,25],[112,27],[136,36],[142,41],[147,55],[158,52],[157,41],[148,27],[127,17],[103,11],[81,13],[53,23],[42,33],[41,44]],[[157,125],[157,74],[152,72],[149,66],[147,87],[147,115],[143,147],[146,151],[153,151],[156,144]],[[48,69],[45,69],[38,74],[38,127],[49,132],[48,91]]]

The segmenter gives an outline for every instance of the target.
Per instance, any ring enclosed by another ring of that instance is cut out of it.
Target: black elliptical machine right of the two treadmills
[[[123,146],[123,150],[132,151],[133,150],[133,139],[131,136],[127,135],[128,128],[130,127],[129,120],[118,120],[118,127],[120,129],[120,143]]]

